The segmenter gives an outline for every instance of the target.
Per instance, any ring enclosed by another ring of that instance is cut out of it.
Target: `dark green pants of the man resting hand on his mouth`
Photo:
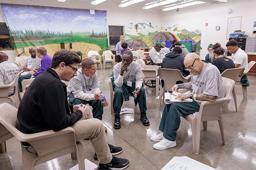
[[[135,83],[132,84],[132,87],[129,87],[127,85],[122,85],[122,87],[116,87],[114,88],[114,98],[113,98],[113,110],[114,114],[119,115],[121,112],[121,107],[125,99],[125,95],[131,94],[131,96],[134,97],[132,92],[135,90]],[[125,93],[125,91],[128,91],[128,94]],[[126,96],[127,97],[127,96]],[[140,94],[137,95],[137,101],[140,107],[140,112],[145,112],[147,110],[147,104],[146,104],[146,94],[145,89],[142,87],[140,88]]]

